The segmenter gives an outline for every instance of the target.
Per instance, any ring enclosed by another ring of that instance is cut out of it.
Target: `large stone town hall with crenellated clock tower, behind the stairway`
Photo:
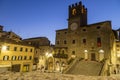
[[[116,64],[116,38],[111,21],[87,23],[87,8],[81,2],[69,5],[68,28],[56,30],[55,53],[88,61]]]

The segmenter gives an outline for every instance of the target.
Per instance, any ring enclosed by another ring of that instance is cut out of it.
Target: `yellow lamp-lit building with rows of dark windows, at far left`
[[[13,72],[32,71],[34,47],[0,38],[0,68]]]

